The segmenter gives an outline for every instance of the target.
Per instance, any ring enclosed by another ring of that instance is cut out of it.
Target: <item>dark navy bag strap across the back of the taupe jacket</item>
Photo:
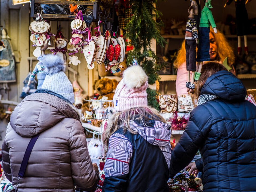
[[[35,142],[37,141],[39,135],[40,135],[40,133],[30,139],[29,145],[27,146],[24,157],[22,159],[21,168],[19,169],[19,173],[18,173],[19,179],[17,181],[16,187],[13,187],[12,189],[7,190],[6,192],[18,192],[19,184],[21,183],[21,180],[24,177],[24,174],[25,174],[25,171],[27,168],[27,163],[29,162],[30,154],[32,152],[32,149],[33,149]]]

